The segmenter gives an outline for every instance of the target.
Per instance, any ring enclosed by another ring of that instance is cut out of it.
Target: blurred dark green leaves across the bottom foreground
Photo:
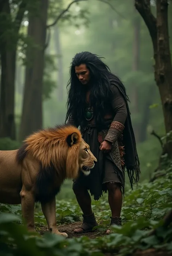
[[[0,255],[37,255],[44,256],[102,256],[105,252],[126,255],[136,249],[150,247],[172,250],[172,229],[159,230],[159,238],[148,237],[148,231],[142,229],[150,226],[155,228],[161,223],[139,217],[122,227],[114,227],[116,233],[90,240],[81,236],[65,240],[61,236],[46,233],[43,237],[31,236],[23,225],[16,224],[21,219],[14,214],[0,214]],[[163,238],[163,244],[160,244]]]

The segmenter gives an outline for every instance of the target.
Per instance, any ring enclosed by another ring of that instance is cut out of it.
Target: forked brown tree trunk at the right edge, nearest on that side
[[[172,131],[172,64],[168,32],[168,0],[156,1],[156,17],[151,13],[150,0],[135,0],[135,7],[143,17],[152,38],[155,59],[155,81],[159,88],[165,131]],[[165,145],[172,159],[172,142]]]

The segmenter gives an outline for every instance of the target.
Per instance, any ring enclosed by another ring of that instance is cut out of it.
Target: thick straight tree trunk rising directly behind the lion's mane
[[[20,140],[42,129],[42,81],[46,45],[48,0],[40,1],[40,16],[29,15],[28,36],[35,45],[26,53],[25,88],[20,126]]]

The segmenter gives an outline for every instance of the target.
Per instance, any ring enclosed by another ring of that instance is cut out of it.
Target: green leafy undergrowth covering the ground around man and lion
[[[71,255],[101,256],[105,252],[118,255],[133,253],[136,249],[166,249],[172,251],[172,227],[161,227],[163,216],[172,208],[172,165],[166,175],[153,183],[138,184],[134,191],[128,189],[122,208],[122,227],[114,226],[113,233],[104,237],[89,239],[67,239],[46,233],[44,236],[30,236],[21,222],[21,207],[1,204],[0,206],[0,255]],[[98,229],[104,230],[110,222],[107,194],[99,201],[93,201]],[[57,222],[69,223],[81,219],[81,210],[76,200],[57,200]],[[35,209],[36,225],[46,225],[40,205]],[[148,236],[150,229],[157,228],[157,236]]]

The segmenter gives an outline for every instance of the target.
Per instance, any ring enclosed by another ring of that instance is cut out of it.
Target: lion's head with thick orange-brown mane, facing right
[[[24,147],[19,149],[18,160],[22,160],[27,153],[39,160],[42,168],[53,166],[59,174],[65,174],[65,178],[72,179],[78,176],[78,171],[89,175],[97,162],[89,145],[83,141],[81,132],[71,125],[31,134],[25,139]]]

